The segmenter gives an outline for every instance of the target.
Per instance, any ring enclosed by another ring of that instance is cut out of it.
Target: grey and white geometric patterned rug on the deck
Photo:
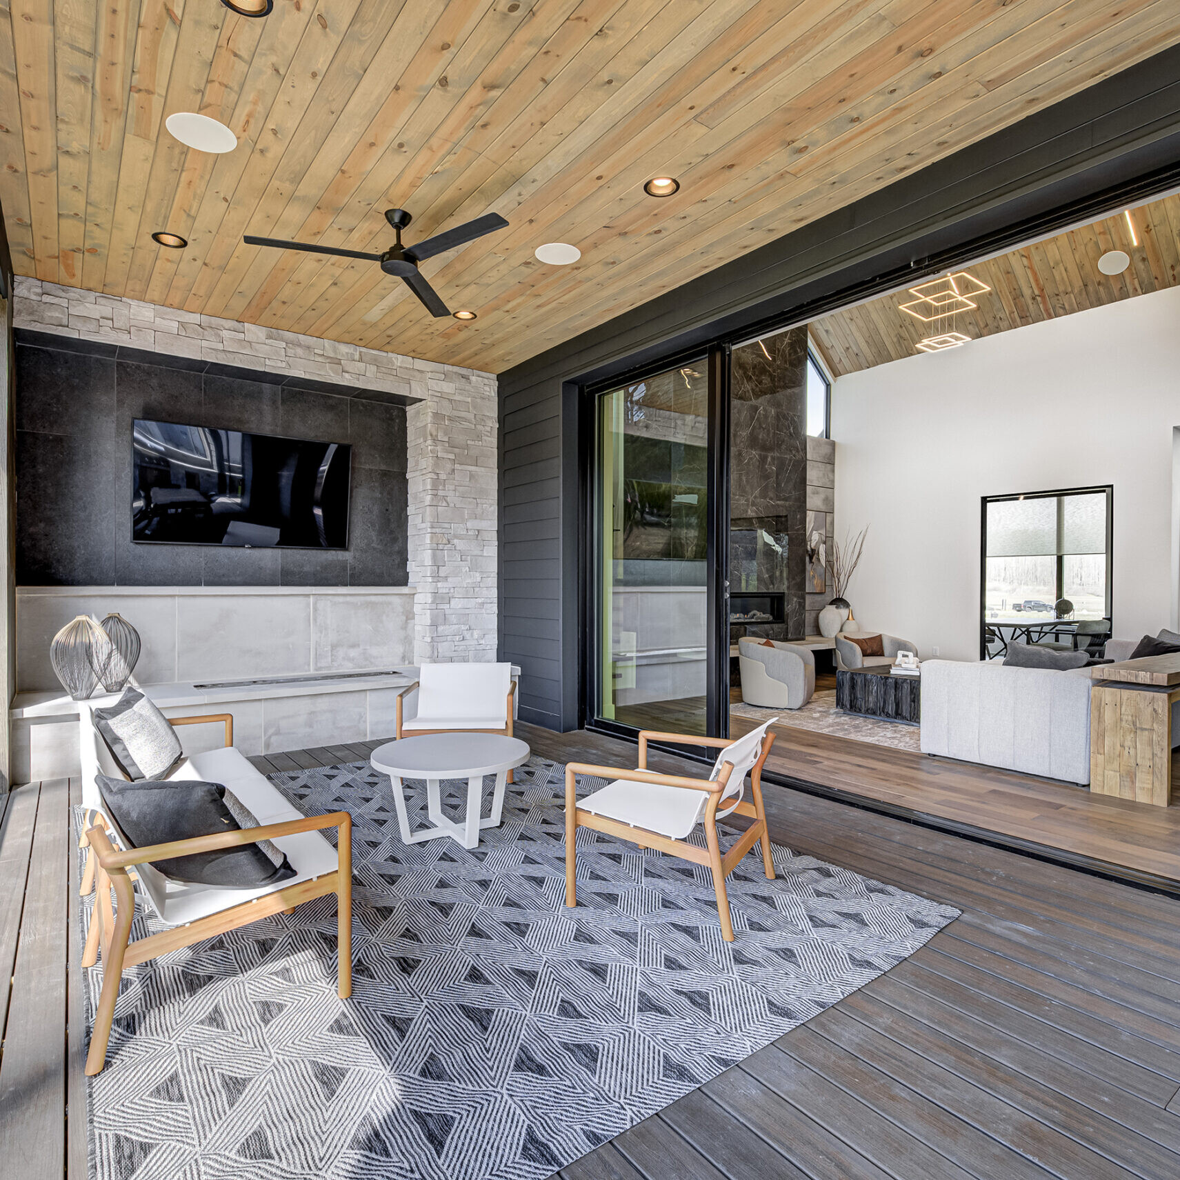
[[[589,830],[568,910],[564,767],[539,758],[470,852],[405,846],[367,763],[271,781],[353,814],[352,998],[332,897],[129,970],[88,1080],[96,1180],[539,1180],[958,917],[781,847],[768,881],[755,846],[726,943],[707,870]]]

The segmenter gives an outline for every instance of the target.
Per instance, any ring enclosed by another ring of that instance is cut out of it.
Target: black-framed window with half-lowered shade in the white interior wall
[[[1113,496],[1107,485],[983,498],[981,656],[989,625],[1110,618]]]

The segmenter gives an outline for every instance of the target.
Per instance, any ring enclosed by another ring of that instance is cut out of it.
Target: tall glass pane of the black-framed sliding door
[[[599,394],[595,713],[708,732],[708,366]]]

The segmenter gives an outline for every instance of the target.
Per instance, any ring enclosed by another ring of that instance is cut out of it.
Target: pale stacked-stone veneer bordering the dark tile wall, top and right
[[[415,660],[496,658],[496,378],[18,277],[18,328],[418,399],[406,412]]]

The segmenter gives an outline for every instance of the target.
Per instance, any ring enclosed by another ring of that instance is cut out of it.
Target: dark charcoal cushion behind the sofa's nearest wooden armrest
[[[235,809],[245,812],[245,817],[254,822],[238,824],[234,819],[232,812],[225,806],[228,792],[218,782],[125,782],[105,774],[98,775],[97,781],[111,819],[133,848],[257,826],[257,821],[236,798]],[[215,852],[153,860],[151,865],[165,877],[178,881],[218,885],[223,889],[258,889],[295,876],[287,857],[274,845],[270,848],[278,857],[277,863],[260,845],[244,844],[237,848],[218,848]]]

